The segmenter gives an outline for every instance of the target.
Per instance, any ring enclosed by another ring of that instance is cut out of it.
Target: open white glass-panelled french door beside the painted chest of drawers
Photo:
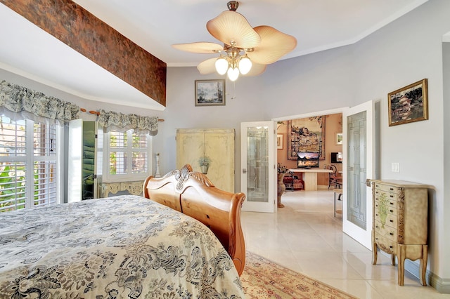
[[[342,113],[344,133],[342,230],[371,249],[373,204],[366,179],[376,178],[375,102],[365,102]]]

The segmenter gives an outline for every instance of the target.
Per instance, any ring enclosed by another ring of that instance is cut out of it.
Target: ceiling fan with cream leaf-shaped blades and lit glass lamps
[[[174,48],[200,54],[219,53],[197,66],[200,74],[228,74],[231,81],[239,75],[256,76],[266,70],[266,65],[276,62],[297,46],[294,36],[284,34],[270,26],[250,26],[248,20],[237,13],[239,2],[229,1],[229,11],[224,11],[206,24],[208,32],[223,44],[200,41],[174,44]]]

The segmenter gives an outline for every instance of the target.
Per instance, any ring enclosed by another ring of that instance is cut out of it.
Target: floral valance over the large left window
[[[0,82],[0,113],[33,119],[34,121],[68,122],[79,119],[79,106],[23,86]]]

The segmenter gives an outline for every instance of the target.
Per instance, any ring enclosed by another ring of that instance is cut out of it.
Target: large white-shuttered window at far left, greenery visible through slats
[[[60,126],[0,116],[0,212],[60,202]]]

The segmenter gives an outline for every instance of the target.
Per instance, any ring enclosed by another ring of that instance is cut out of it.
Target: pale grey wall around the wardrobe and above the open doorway
[[[155,150],[164,153],[163,171],[176,167],[176,128],[235,128],[235,188],[240,191],[240,123],[349,106],[353,84],[347,76],[352,73],[350,54],[349,48],[339,48],[283,60],[269,65],[259,77],[242,77],[234,84],[227,81],[226,105],[214,107],[195,107],[194,86],[195,80],[217,79],[217,75],[202,76],[195,67],[169,67],[163,113],[169,121],[163,124],[164,145],[158,148],[155,144]]]

